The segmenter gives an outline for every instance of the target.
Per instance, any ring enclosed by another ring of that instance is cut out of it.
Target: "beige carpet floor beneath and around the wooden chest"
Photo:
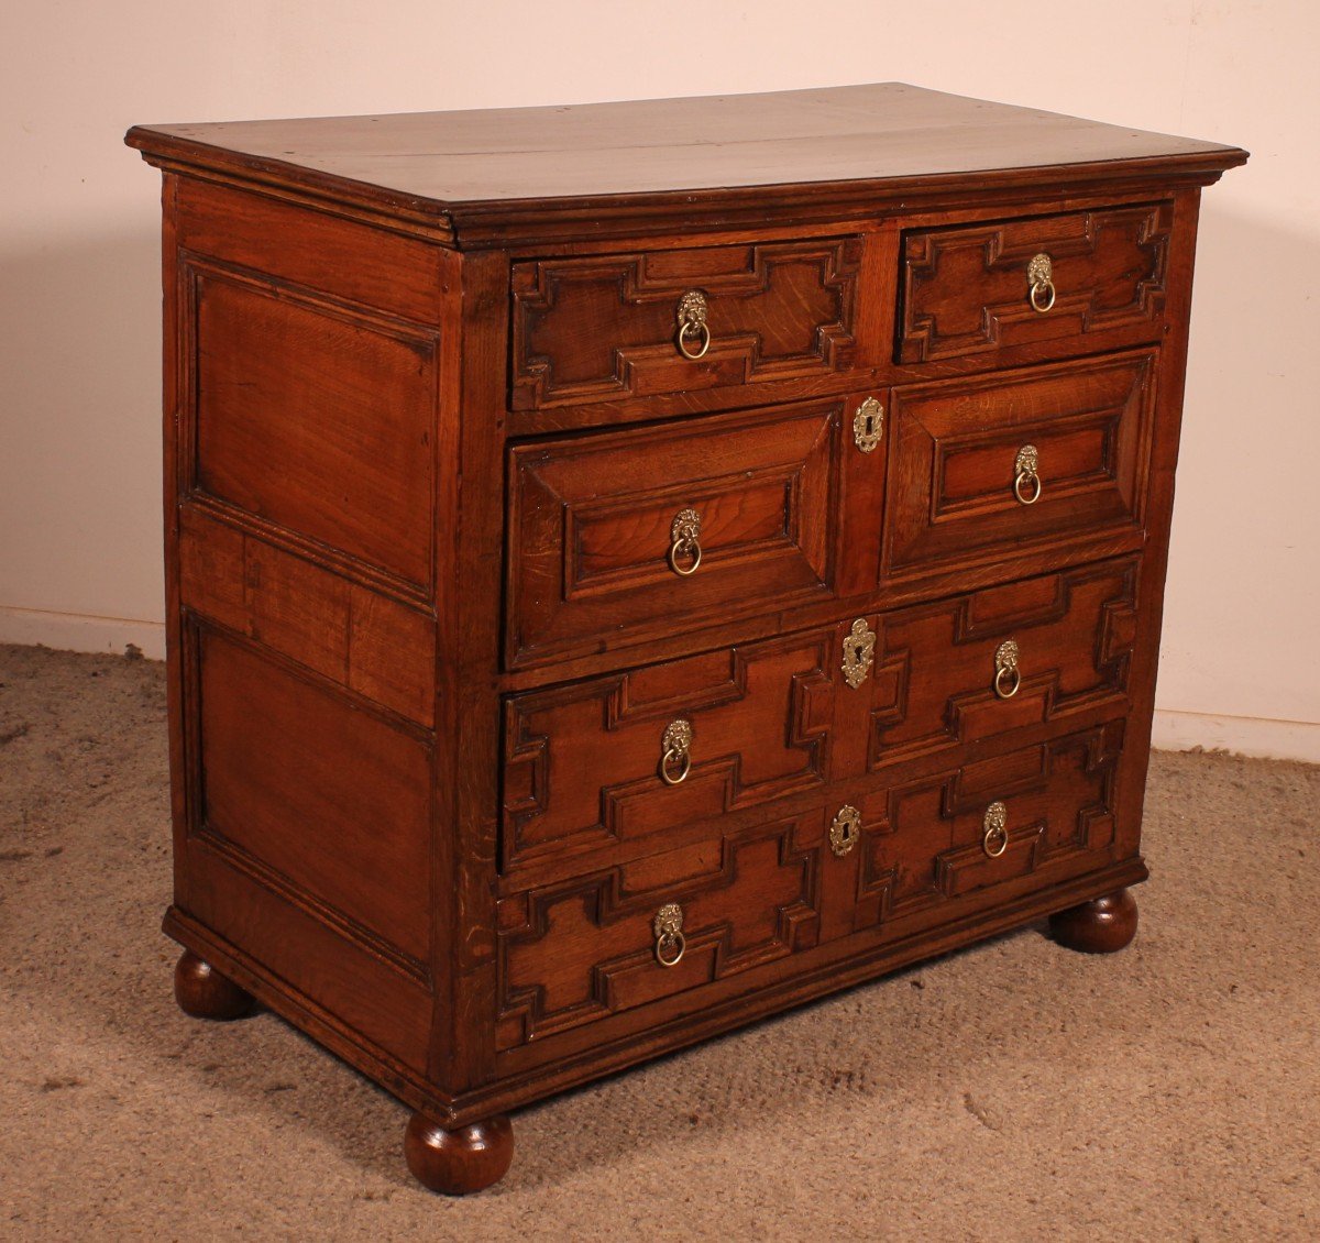
[[[546,1102],[451,1201],[279,1019],[174,1008],[164,711],[0,647],[0,1236],[1320,1236],[1320,769],[1156,756],[1126,953],[1027,929]]]

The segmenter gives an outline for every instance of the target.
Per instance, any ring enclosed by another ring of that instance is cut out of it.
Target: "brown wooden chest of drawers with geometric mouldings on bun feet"
[[[137,128],[176,899],[473,1190],[504,1111],[1126,945],[1201,187],[887,84]]]

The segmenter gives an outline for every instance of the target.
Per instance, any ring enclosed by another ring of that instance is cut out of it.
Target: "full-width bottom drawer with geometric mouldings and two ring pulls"
[[[737,995],[739,978],[752,990],[760,969],[825,941],[935,926],[993,905],[999,887],[1018,895],[1104,867],[1122,735],[1111,722],[898,777],[847,804],[510,895],[498,907],[498,1048],[562,1053],[590,1025],[586,1042],[611,1038]]]

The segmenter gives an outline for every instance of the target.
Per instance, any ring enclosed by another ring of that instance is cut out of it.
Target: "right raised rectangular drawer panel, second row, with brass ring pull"
[[[894,389],[882,578],[1139,548],[1154,376],[1142,352]]]

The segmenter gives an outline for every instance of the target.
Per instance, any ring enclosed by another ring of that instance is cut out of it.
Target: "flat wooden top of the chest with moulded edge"
[[[689,210],[801,202],[843,183],[895,198],[986,183],[1059,186],[1175,173],[1213,179],[1246,153],[1216,143],[898,82],[627,103],[140,125],[129,145],[378,208],[457,223],[537,203]],[[810,193],[807,195],[810,197]],[[836,195],[837,197],[837,195]]]

